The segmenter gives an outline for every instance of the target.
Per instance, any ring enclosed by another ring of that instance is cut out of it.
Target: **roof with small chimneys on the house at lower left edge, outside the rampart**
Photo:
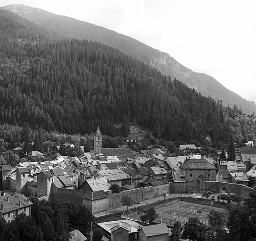
[[[7,201],[7,197],[9,201]],[[21,206],[19,206],[19,201]],[[27,201],[27,198],[21,193],[8,193],[5,196],[0,196],[0,203],[3,204],[3,210],[0,209],[1,213],[15,211],[16,209],[22,209],[33,204],[31,201]]]

